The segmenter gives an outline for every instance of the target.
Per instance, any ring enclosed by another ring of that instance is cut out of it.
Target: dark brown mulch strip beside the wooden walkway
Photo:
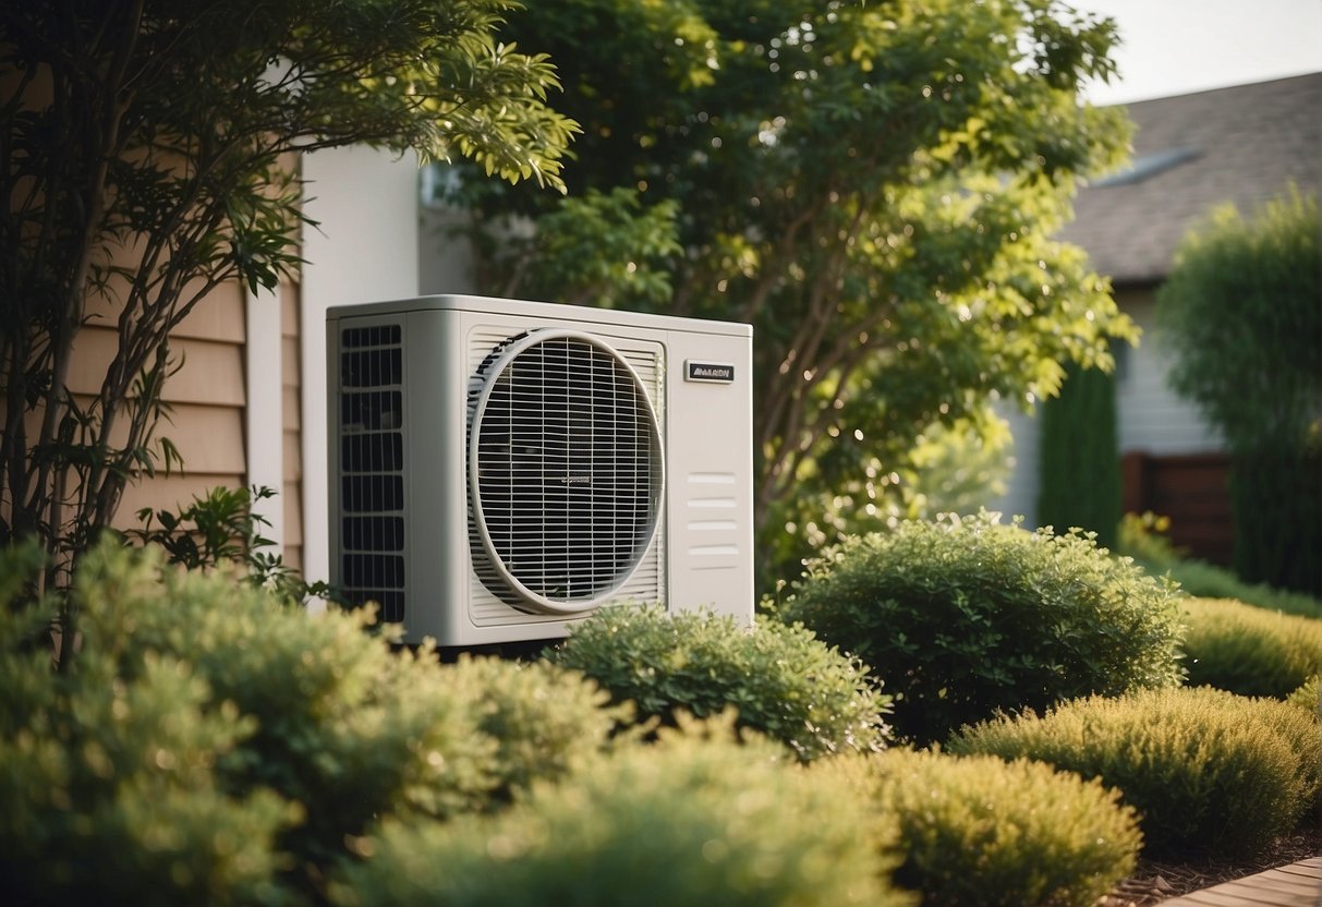
[[[1149,907],[1222,882],[1322,855],[1322,824],[1280,838],[1263,853],[1240,861],[1161,863],[1144,861],[1137,871],[1096,907]]]

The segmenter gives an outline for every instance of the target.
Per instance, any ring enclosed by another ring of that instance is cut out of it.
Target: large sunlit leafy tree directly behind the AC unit
[[[583,126],[564,200],[475,181],[484,291],[755,325],[756,522],[886,525],[916,439],[1108,366],[1133,327],[1051,239],[1128,124],[1113,26],[1051,0],[531,4]],[[531,221],[535,229],[513,229]],[[575,223],[609,225],[564,230]],[[625,229],[623,225],[633,227]],[[553,229],[554,227],[554,229]],[[631,245],[632,243],[632,245]],[[829,526],[821,541],[839,532]]]

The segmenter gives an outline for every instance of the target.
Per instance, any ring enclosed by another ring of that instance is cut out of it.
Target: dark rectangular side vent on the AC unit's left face
[[[405,619],[403,348],[398,324],[340,335],[341,578]]]

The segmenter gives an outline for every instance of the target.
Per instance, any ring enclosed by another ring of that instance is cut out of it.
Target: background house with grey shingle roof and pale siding
[[[1080,190],[1063,237],[1109,276],[1116,301],[1144,329],[1117,350],[1117,427],[1126,512],[1173,518],[1171,538],[1228,562],[1227,461],[1220,439],[1166,383],[1169,353],[1154,325],[1154,297],[1175,249],[1214,208],[1251,216],[1289,182],[1322,185],[1322,73],[1128,104],[1134,120],[1129,169]],[[1038,424],[1011,419],[1015,469],[995,509],[1032,522]],[[1080,476],[1087,481],[1087,476]]]

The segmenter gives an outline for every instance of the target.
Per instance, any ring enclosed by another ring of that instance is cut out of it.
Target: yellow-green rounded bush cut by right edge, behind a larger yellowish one
[[[1322,620],[1227,599],[1186,599],[1190,685],[1284,699],[1322,672]]]

